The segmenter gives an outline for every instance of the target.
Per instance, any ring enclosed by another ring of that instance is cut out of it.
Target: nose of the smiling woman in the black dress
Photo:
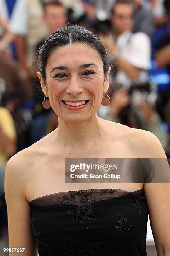
[[[72,96],[75,96],[80,92],[83,92],[83,88],[82,88],[80,79],[77,76],[72,76],[70,78],[70,82],[69,82],[65,92],[71,94]]]

